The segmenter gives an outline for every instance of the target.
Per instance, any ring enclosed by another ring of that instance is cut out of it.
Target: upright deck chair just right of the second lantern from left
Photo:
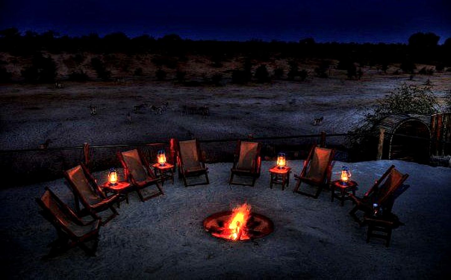
[[[208,168],[196,139],[178,142],[177,165],[179,177],[182,176],[185,187],[210,184],[208,180]],[[205,175],[205,182],[188,184],[187,178]]]

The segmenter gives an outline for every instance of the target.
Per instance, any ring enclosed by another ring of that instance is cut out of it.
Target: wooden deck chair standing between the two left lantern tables
[[[118,153],[118,157],[124,167],[125,177],[133,184],[134,189],[138,193],[141,201],[146,201],[152,197],[165,194],[161,187],[161,179],[156,178],[146,157],[137,149],[123,151]],[[141,190],[149,186],[155,185],[156,192],[151,193],[147,197],[143,197]]]

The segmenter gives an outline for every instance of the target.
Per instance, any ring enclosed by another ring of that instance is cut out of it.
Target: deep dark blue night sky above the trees
[[[450,0],[0,0],[0,29],[61,35],[124,32],[270,41],[401,42],[415,32],[451,37]]]

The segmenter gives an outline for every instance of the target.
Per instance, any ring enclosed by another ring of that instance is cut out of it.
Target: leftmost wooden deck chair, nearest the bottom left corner
[[[52,246],[51,251],[44,258],[55,257],[75,246],[82,248],[89,256],[95,256],[100,219],[83,222],[55,193],[49,188],[45,189],[45,193],[36,198],[36,202],[42,208],[41,215],[55,226],[58,239],[49,244]],[[89,240],[94,240],[92,248],[85,244]]]

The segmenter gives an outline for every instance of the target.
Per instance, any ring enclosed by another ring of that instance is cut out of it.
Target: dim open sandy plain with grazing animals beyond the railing
[[[336,70],[337,71],[337,70]],[[365,69],[362,81],[346,80],[344,72],[308,82],[224,87],[183,87],[172,82],[64,83],[0,86],[2,149],[142,143],[186,139],[243,138],[346,132],[358,125],[365,106],[374,104],[402,83],[422,84],[428,78],[442,102],[451,73],[433,76],[381,75]],[[371,74],[372,73],[372,74]],[[156,115],[151,106],[168,102]],[[89,106],[97,107],[90,115]],[[137,112],[134,106],[145,105]],[[208,106],[210,116],[184,115],[183,106]],[[131,124],[126,115],[131,115]],[[323,117],[321,125],[313,119]],[[328,140],[329,141],[329,140]]]

